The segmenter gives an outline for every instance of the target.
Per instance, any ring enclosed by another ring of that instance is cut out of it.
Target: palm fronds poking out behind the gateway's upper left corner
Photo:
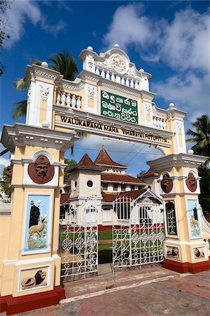
[[[60,72],[60,74],[64,76],[64,79],[74,80],[76,74],[78,74],[76,60],[68,51],[56,53],[48,60],[53,62],[53,64],[49,65],[49,68]],[[41,60],[31,58],[31,62],[36,65],[41,65]],[[27,83],[23,80],[23,78],[18,78],[15,80],[14,86],[17,90],[25,90],[27,88]],[[22,117],[26,116],[27,100],[19,101],[15,104],[16,106],[13,108],[13,119],[22,119]]]

